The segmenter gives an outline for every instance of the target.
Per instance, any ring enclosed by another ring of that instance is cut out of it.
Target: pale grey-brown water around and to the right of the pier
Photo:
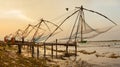
[[[50,46],[48,48],[51,48]],[[55,46],[53,47],[56,49]],[[65,46],[58,46],[58,50],[65,51]],[[74,47],[69,47],[69,52],[74,52]],[[78,44],[77,47],[77,57],[71,56],[69,58],[64,57],[66,60],[53,59],[58,62],[61,67],[66,65],[68,67],[79,67],[81,60],[85,61],[86,65],[92,65],[93,67],[119,67],[120,66],[120,42],[87,42],[84,44]],[[93,54],[84,54],[79,51],[84,50],[86,52],[93,52]],[[36,49],[35,49],[36,51]],[[43,56],[43,47],[39,49],[40,56]],[[36,52],[35,52],[36,54]],[[54,51],[54,55],[56,52]],[[117,58],[112,58],[112,55],[118,56]],[[47,55],[51,55],[51,50],[47,50]],[[58,55],[63,55],[63,52],[58,52]],[[35,55],[36,56],[36,55]],[[73,62],[73,60],[76,61]],[[81,60],[80,60],[81,59]],[[69,62],[68,62],[69,61]],[[78,63],[79,62],[79,63]],[[85,66],[84,66],[85,67]],[[87,67],[87,66],[86,66]]]

